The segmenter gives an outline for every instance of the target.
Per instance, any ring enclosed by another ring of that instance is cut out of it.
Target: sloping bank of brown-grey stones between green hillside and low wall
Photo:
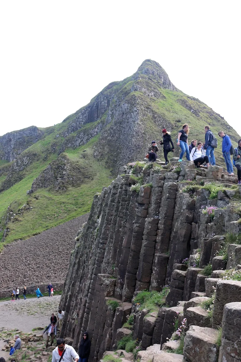
[[[7,245],[0,254],[0,291],[50,281],[64,282],[74,238],[88,218],[89,213]]]

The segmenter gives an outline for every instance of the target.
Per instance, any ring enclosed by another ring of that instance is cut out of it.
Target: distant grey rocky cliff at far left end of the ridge
[[[0,136],[0,158],[9,162],[15,160],[22,151],[38,142],[43,134],[38,127],[31,126]]]

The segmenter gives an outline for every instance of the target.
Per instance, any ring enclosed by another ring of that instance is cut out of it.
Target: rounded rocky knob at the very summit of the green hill
[[[137,72],[134,74],[134,79],[142,79],[143,75],[151,77],[155,80],[161,88],[176,90],[178,89],[172,84],[168,77],[167,72],[155,60],[146,59],[139,66]]]

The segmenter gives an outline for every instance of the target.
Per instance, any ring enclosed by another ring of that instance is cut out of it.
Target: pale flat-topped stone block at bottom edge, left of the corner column
[[[218,361],[218,330],[191,325],[186,332],[183,355],[189,362]]]

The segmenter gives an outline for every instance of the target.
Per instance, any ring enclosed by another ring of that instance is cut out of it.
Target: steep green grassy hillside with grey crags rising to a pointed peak
[[[178,90],[158,63],[145,60],[63,122],[0,137],[0,237],[25,239],[90,211],[93,195],[121,165],[141,159],[163,127],[175,141],[183,123],[190,125],[189,140],[203,141],[206,124],[223,129],[233,144],[240,138],[223,117]],[[223,165],[221,142],[215,155]]]

